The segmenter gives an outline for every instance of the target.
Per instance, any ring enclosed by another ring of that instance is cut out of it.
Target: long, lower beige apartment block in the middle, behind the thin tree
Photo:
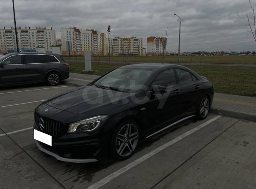
[[[111,55],[142,55],[143,39],[137,37],[109,38]]]

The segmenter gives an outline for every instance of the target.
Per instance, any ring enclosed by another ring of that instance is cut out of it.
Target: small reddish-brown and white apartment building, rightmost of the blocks
[[[162,55],[166,53],[167,39],[165,37],[147,37],[147,55]]]

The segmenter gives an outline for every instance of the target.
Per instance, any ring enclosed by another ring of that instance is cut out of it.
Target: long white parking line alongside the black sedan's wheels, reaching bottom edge
[[[145,154],[144,156],[140,157],[139,159],[136,159],[132,163],[128,164],[127,166],[119,169],[118,171],[112,173],[111,175],[103,178],[102,180],[96,182],[95,184],[92,184],[90,187],[87,187],[87,189],[98,189],[102,187],[104,184],[107,184],[109,181],[113,180],[114,178],[118,177],[119,175],[125,173],[129,169],[133,168],[134,166],[140,164],[141,162],[149,159],[153,155],[157,154],[158,152],[161,152],[162,150],[166,149],[167,147],[173,145],[174,143],[177,143],[178,141],[182,140],[183,138],[189,136],[190,134],[194,133],[195,131],[198,131],[199,129],[205,127],[206,125],[210,124],[211,122],[214,122],[218,118],[220,118],[221,115],[217,115],[216,117],[212,118],[211,120],[208,120],[199,126],[195,127],[194,129],[191,129],[190,131],[185,132],[184,134],[174,138],[173,140],[169,141],[168,143],[165,143],[164,145],[161,145],[160,147],[156,148],[155,150],[149,152],[148,154]]]

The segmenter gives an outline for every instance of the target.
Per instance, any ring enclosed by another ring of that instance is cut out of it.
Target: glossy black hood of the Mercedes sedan
[[[132,101],[135,94],[85,86],[58,95],[45,103],[60,110],[85,114],[105,112]],[[124,100],[125,99],[125,100]]]

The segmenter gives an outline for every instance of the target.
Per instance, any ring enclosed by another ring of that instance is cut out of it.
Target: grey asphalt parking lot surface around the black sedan
[[[34,109],[73,88],[0,88],[0,188],[256,188],[256,123],[215,114],[149,138],[126,161],[74,164],[40,152]]]

